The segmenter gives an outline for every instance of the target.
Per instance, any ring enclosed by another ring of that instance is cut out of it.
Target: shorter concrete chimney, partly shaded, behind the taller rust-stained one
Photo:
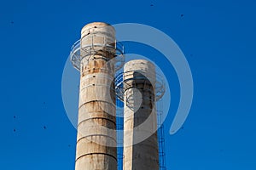
[[[125,64],[124,72],[124,170],[158,170],[154,65],[135,59]]]

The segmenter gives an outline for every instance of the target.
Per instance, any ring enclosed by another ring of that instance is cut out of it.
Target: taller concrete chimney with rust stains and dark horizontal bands
[[[116,128],[115,94],[111,89],[114,65],[105,65],[114,55],[99,46],[114,46],[114,40],[115,31],[106,23],[90,23],[81,31],[76,170],[117,169],[116,148],[111,147],[116,145],[116,134],[108,130]]]

